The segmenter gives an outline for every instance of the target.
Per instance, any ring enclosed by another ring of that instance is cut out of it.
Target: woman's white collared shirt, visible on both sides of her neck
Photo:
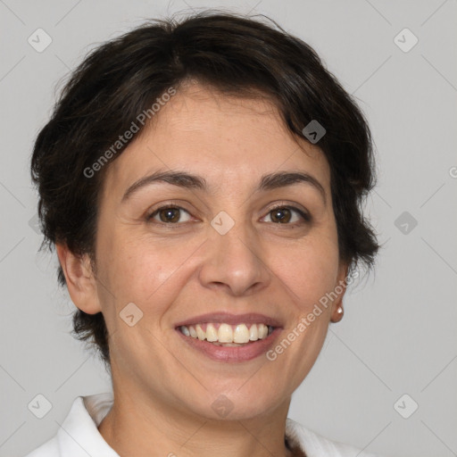
[[[112,403],[112,392],[77,397],[57,434],[25,457],[119,457],[98,431]],[[286,436],[290,443],[299,445],[307,457],[377,457],[324,438],[289,418]]]

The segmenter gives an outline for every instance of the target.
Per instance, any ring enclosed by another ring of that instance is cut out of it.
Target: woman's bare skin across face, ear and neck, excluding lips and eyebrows
[[[121,202],[137,179],[169,169],[204,177],[210,192],[156,182]],[[327,201],[305,183],[254,192],[263,174],[281,170],[312,174]],[[174,229],[160,214],[146,220],[170,201],[185,210]],[[291,212],[288,223],[278,223],[271,207],[282,203],[312,220]],[[210,224],[220,211],[235,221],[223,236]],[[284,436],[291,395],[312,369],[329,322],[341,319],[345,291],[275,361],[212,361],[175,330],[179,320],[205,312],[260,312],[282,321],[280,341],[345,280],[328,162],[318,145],[287,131],[273,104],[196,83],[180,88],[110,164],[96,274],[87,255],[63,244],[57,253],[73,303],[106,320],[114,404],[98,429],[117,453],[290,455]],[[143,312],[133,327],[119,316],[127,303]],[[233,405],[225,418],[212,409],[219,395]]]

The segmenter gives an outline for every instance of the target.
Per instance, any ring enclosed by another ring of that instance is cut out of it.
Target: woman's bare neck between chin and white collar
[[[152,400],[151,395],[137,390],[113,391],[112,410],[98,430],[121,457],[300,455],[285,443],[290,398],[260,417],[212,420],[177,411],[160,398]]]

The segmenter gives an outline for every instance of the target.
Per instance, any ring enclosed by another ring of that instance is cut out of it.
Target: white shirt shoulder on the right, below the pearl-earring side
[[[374,453],[366,453],[352,445],[320,436],[289,418],[286,422],[286,434],[289,440],[300,446],[307,457],[353,457],[354,455],[357,457],[381,457]]]

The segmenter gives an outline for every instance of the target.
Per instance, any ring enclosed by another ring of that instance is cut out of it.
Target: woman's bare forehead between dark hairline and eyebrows
[[[238,188],[255,176],[279,170],[312,173],[329,188],[329,169],[317,145],[293,136],[276,106],[265,97],[222,95],[194,84],[177,91],[108,170],[105,189],[121,192],[158,169],[202,175],[216,190]]]

